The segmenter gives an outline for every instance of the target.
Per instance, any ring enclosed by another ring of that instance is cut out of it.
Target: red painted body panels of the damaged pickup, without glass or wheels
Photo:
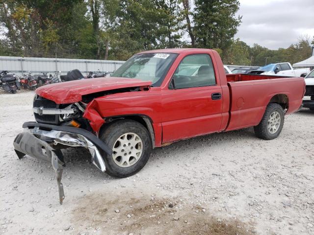
[[[84,118],[99,131],[104,118],[141,115],[152,120],[156,146],[213,132],[229,131],[259,124],[265,108],[276,94],[288,96],[288,112],[302,103],[303,78],[251,74],[225,74],[219,54],[209,49],[162,49],[141,53],[178,53],[160,87],[148,91],[127,92],[95,98],[86,108]],[[216,86],[168,89],[181,60],[190,54],[209,54]],[[150,82],[124,78],[95,78],[41,87],[36,93],[56,103],[78,102],[81,95],[118,88],[149,86]],[[222,98],[212,100],[212,93]]]

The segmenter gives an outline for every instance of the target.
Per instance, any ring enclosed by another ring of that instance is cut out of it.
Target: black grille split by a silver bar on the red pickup
[[[58,104],[56,104],[54,101],[46,99],[41,96],[37,96],[34,100],[33,107],[35,108],[46,108],[46,109],[57,109]],[[39,123],[47,123],[47,124],[55,124],[57,125],[59,123],[59,116],[58,115],[39,115],[35,114],[35,119]]]

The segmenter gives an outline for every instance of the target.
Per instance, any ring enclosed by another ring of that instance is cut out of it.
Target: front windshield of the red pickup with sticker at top
[[[158,87],[177,56],[178,54],[175,53],[136,54],[113,72],[111,76],[152,81],[152,86]]]

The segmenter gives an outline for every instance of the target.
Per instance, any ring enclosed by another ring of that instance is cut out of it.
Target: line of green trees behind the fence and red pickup
[[[0,0],[0,55],[126,60],[143,50],[203,47],[225,64],[252,66],[311,55],[304,36],[278,50],[235,40],[238,9],[239,0]]]

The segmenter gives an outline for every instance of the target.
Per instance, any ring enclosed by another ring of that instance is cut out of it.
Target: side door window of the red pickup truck
[[[216,85],[215,73],[208,54],[186,56],[175,71],[170,89]]]

